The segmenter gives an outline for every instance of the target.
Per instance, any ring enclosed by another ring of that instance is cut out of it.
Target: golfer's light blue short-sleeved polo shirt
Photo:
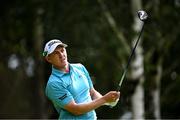
[[[69,66],[68,73],[52,67],[45,90],[47,97],[60,114],[59,119],[96,119],[94,110],[77,116],[63,109],[72,100],[77,104],[92,101],[89,91],[93,88],[93,84],[86,68],[82,64],[69,64]]]

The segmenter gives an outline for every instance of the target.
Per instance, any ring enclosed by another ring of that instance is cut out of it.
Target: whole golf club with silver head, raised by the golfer
[[[142,25],[142,28],[141,28],[141,30],[140,30],[138,39],[136,40],[136,43],[135,43],[135,45],[134,45],[134,48],[132,49],[131,55],[130,55],[130,57],[129,57],[129,59],[128,59],[128,63],[127,63],[127,65],[126,65],[126,68],[125,68],[125,70],[124,70],[124,72],[123,72],[123,74],[122,74],[121,80],[120,80],[119,85],[118,85],[118,87],[117,87],[117,91],[120,91],[122,82],[123,82],[123,80],[124,80],[124,78],[125,78],[125,76],[126,76],[128,67],[129,67],[130,62],[131,62],[131,59],[132,59],[132,57],[133,57],[133,55],[134,55],[134,52],[135,52],[135,50],[136,50],[136,47],[137,47],[137,45],[138,45],[138,43],[139,43],[139,40],[140,40],[140,38],[141,38],[143,29],[144,29],[145,21],[146,21],[147,18],[148,18],[148,14],[147,14],[145,11],[143,11],[143,10],[138,11],[137,14],[138,14],[139,19],[143,22],[143,25]]]

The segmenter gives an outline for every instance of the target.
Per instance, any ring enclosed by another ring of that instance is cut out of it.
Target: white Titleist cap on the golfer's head
[[[44,47],[44,51],[43,51],[43,56],[46,57],[48,56],[49,54],[51,54],[55,49],[56,47],[60,45],[62,47],[67,47],[66,44],[62,43],[60,40],[58,39],[53,39],[53,40],[50,40],[49,42],[46,43],[45,47]]]

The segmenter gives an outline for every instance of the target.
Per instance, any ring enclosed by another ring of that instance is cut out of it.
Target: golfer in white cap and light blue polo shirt
[[[57,39],[45,45],[43,56],[52,65],[46,96],[59,113],[59,119],[97,119],[95,109],[115,106],[120,92],[110,91],[104,96],[97,92],[86,68],[68,62],[66,47]]]

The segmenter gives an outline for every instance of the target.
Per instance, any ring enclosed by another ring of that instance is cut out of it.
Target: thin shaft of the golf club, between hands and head
[[[142,25],[141,31],[140,31],[140,33],[139,33],[138,39],[136,40],[136,43],[135,43],[135,45],[134,45],[134,48],[133,48],[133,50],[132,50],[132,52],[131,52],[131,55],[130,55],[130,57],[129,57],[129,59],[128,59],[128,63],[127,63],[127,65],[126,65],[126,68],[125,68],[125,70],[124,70],[124,72],[123,72],[123,74],[122,74],[121,80],[119,81],[119,85],[118,85],[118,87],[117,87],[117,91],[120,91],[120,89],[121,89],[121,85],[122,85],[122,83],[123,83],[123,81],[124,81],[124,78],[125,78],[125,76],[126,76],[126,73],[127,73],[128,68],[129,68],[130,62],[131,62],[131,60],[132,60],[132,57],[133,57],[133,55],[134,55],[134,53],[135,53],[135,50],[136,50],[136,47],[137,47],[137,45],[138,45],[138,43],[139,43],[139,40],[140,40],[140,38],[141,38],[143,29],[144,29],[144,22],[143,22],[142,24],[143,24],[143,25]]]

